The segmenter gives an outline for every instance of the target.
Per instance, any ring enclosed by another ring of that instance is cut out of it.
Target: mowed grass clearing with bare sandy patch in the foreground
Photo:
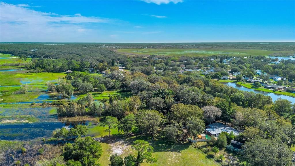
[[[196,149],[188,142],[168,143],[163,139],[155,138],[153,141],[149,136],[137,135],[129,138],[123,137],[118,139],[116,136],[110,138],[115,141],[110,143],[101,143],[103,154],[99,159],[101,166],[109,165],[109,157],[113,151],[121,152],[120,156],[125,157],[128,154],[136,155],[136,151],[131,149],[132,142],[136,139],[144,139],[148,141],[154,148],[153,157],[157,159],[156,163],[142,163],[143,166],[191,166],[191,165],[219,165],[212,159],[211,155],[207,155],[199,149]],[[117,149],[117,150],[116,150]],[[118,150],[119,149],[119,150]]]

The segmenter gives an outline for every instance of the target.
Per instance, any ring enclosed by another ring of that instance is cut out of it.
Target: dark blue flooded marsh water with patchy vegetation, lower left
[[[52,131],[64,126],[73,127],[77,124],[88,125],[89,121],[67,122],[58,121],[54,107],[1,108],[1,115],[17,119],[22,115],[30,115],[38,119],[34,123],[4,123],[0,120],[1,140],[32,140],[49,138]]]

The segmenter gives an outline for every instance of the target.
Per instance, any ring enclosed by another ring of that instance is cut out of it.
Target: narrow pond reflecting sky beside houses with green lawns
[[[246,87],[243,87],[241,85],[238,85],[238,84],[236,84],[234,82],[224,82],[223,84],[227,84],[228,86],[237,88],[239,90],[243,90],[243,91],[247,91],[247,92],[260,93],[260,94],[263,94],[263,95],[266,95],[266,96],[270,96],[273,99],[273,102],[276,101],[278,98],[282,98],[282,99],[287,99],[287,100],[295,103],[295,97],[276,94],[276,93],[271,93],[271,92],[264,92],[264,91],[255,90],[255,89],[250,89],[250,88],[246,88]]]

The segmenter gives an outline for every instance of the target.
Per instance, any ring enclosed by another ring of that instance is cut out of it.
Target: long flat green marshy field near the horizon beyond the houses
[[[273,53],[293,53],[293,51],[266,51],[246,49],[182,49],[182,48],[139,48],[139,49],[117,49],[118,53],[127,55],[158,55],[158,56],[211,56],[211,55],[232,55],[232,56],[268,56]]]

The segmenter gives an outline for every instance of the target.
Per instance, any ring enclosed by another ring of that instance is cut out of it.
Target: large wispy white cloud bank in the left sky
[[[100,23],[113,20],[100,17],[85,17],[81,14],[60,15],[39,12],[24,7],[1,2],[0,40],[1,42],[54,42],[82,41],[82,38],[97,38]],[[87,26],[97,24],[96,29]],[[94,34],[95,33],[95,34]]]

